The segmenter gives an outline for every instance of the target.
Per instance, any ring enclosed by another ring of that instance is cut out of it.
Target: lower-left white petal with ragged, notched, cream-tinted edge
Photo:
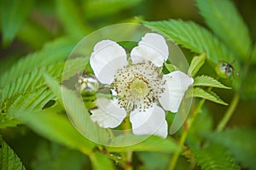
[[[118,127],[126,116],[125,109],[119,107],[116,99],[98,98],[96,105],[98,108],[90,111],[90,119],[100,127]]]

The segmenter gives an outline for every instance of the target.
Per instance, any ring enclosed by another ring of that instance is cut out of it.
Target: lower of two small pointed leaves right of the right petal
[[[222,99],[220,99],[217,94],[214,94],[212,91],[207,92],[207,91],[203,90],[202,88],[193,88],[193,97],[208,99],[210,101],[213,101],[213,102],[221,104],[221,105],[228,105]]]

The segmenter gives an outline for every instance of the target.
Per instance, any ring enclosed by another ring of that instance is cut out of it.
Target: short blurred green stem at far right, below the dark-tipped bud
[[[239,99],[240,99],[239,94],[236,93],[231,101],[230,107],[225,112],[222,120],[218,123],[218,127],[217,127],[218,132],[222,131],[226,126],[226,124],[230,121],[230,118],[233,115],[234,111],[236,110],[237,104],[239,103]]]

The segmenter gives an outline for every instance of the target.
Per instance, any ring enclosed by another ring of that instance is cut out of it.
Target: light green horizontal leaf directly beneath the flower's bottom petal
[[[131,145],[133,144],[133,145]],[[158,136],[121,135],[114,138],[107,147],[108,151],[158,151],[172,153],[178,150],[178,145],[172,139],[162,139]]]

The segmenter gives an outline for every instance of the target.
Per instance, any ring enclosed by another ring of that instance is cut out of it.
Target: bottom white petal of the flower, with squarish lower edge
[[[166,113],[157,105],[146,111],[131,112],[130,121],[134,134],[154,134],[163,138],[167,136]]]

